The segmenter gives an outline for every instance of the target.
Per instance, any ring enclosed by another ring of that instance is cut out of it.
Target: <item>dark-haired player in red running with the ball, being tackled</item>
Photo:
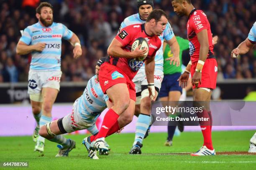
[[[101,65],[99,81],[102,91],[113,101],[113,107],[106,113],[99,133],[90,137],[88,142],[94,141],[91,143],[92,148],[108,151],[104,145],[105,137],[132,121],[136,102],[135,85],[132,80],[144,61],[149,97],[155,100],[154,57],[161,47],[158,36],[166,28],[167,22],[168,16],[163,10],[153,10],[146,23],[123,28],[108,47],[110,60]],[[144,37],[149,48],[139,50],[139,46],[131,52],[131,45],[138,37]],[[148,55],[144,61],[135,60],[136,57],[143,57],[147,50]]]

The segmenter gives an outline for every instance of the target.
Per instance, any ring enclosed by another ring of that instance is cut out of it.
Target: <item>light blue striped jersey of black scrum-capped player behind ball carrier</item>
[[[133,14],[123,20],[123,22],[120,25],[119,30],[127,27],[128,25],[141,24],[141,23],[145,23],[145,22],[146,22],[145,20],[141,20],[139,13]],[[159,50],[156,52],[156,57],[155,57],[156,66],[160,66],[162,68],[162,70],[163,70],[163,65],[164,65],[164,57],[163,57],[163,55],[164,55],[163,54],[164,39],[171,40],[173,36],[174,36],[174,33],[172,31],[172,27],[171,27],[170,23],[168,22],[164,32],[159,36],[159,38],[162,42],[162,45],[159,48]],[[144,63],[141,68],[145,69]]]

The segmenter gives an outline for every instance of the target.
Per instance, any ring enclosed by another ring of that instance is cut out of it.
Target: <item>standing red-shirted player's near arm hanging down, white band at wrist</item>
[[[197,63],[197,67],[195,70],[195,74],[192,77],[192,85],[198,86],[198,83],[201,84],[202,78],[202,67],[207,58],[207,54],[209,52],[209,41],[207,30],[202,30],[197,33],[197,39],[200,43],[200,52],[199,52],[199,60]]]

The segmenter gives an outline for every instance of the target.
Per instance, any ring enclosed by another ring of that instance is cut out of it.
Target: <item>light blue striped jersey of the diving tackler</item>
[[[88,123],[94,123],[107,107],[108,95],[104,95],[96,75],[90,78],[81,97],[77,99],[76,112]]]

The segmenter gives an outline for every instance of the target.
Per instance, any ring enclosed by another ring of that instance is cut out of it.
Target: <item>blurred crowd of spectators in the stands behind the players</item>
[[[73,59],[72,45],[62,41],[62,81],[83,81],[94,75],[95,64],[105,57],[108,45],[124,18],[138,12],[137,0],[45,0],[54,6],[54,22],[63,23],[81,41],[82,56]],[[26,82],[31,55],[17,55],[20,30],[38,20],[35,8],[40,0],[0,0],[0,82]],[[256,77],[256,48],[232,59],[230,52],[248,36],[256,16],[255,0],[192,0],[203,10],[213,35],[218,35],[215,56],[218,80]],[[173,12],[171,0],[154,0],[154,7],[166,11],[176,36],[187,37],[187,18]],[[254,17],[253,17],[254,16]],[[184,64],[189,57],[185,52]]]

